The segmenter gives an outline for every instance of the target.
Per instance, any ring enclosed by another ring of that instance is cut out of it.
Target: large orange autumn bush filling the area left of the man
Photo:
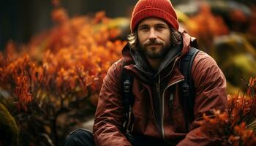
[[[108,28],[105,12],[69,18],[56,7],[52,18],[53,29],[26,46],[9,42],[0,53],[1,102],[17,120],[24,145],[61,145],[81,111],[97,104],[103,77],[126,43],[115,40],[118,28]]]

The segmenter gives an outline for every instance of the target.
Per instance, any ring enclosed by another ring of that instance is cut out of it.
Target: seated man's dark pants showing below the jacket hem
[[[167,146],[168,144],[162,139],[154,139],[152,137],[134,137],[131,134],[126,135],[127,139],[133,146]],[[65,146],[95,146],[94,137],[91,131],[79,128],[72,131],[65,141]]]

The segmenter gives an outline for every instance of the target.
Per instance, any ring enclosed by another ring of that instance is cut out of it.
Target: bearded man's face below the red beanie
[[[138,39],[147,58],[162,58],[170,47],[170,28],[159,18],[146,18],[138,26]]]

